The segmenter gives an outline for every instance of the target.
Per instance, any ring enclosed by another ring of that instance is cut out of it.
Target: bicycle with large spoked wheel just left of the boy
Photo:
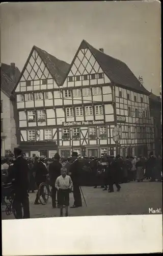
[[[50,184],[49,184],[50,179],[48,174],[45,176],[46,176],[46,181],[42,182],[38,188],[39,201],[42,205],[47,204],[49,197],[51,197]]]

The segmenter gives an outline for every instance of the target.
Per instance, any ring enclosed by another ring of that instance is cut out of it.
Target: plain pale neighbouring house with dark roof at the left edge
[[[1,156],[5,156],[17,145],[14,119],[15,102],[11,99],[12,90],[20,76],[15,63],[1,63]]]

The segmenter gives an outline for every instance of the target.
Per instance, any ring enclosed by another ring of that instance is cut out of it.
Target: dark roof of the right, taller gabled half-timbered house
[[[138,78],[135,77],[124,62],[95,49],[86,40],[82,41],[77,53],[81,48],[89,48],[90,52],[93,54],[94,58],[97,60],[103,72],[111,80],[111,82],[124,86],[130,90],[133,89],[145,94],[149,94],[149,92],[143,87]],[[75,57],[77,56],[77,53]],[[73,61],[71,63],[71,67]]]

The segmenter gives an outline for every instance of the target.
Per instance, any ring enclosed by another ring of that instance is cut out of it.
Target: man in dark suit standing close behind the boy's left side
[[[52,197],[52,208],[56,208],[56,194],[57,194],[57,202],[59,207],[59,193],[57,188],[55,187],[55,183],[57,178],[61,175],[62,164],[60,163],[60,155],[58,153],[55,154],[53,162],[49,164],[49,178],[51,189],[51,197]]]

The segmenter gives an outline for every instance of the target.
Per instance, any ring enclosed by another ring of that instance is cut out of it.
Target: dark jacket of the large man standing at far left
[[[14,179],[13,188],[18,196],[26,196],[29,187],[28,162],[22,156],[18,157],[9,172],[8,180]]]

